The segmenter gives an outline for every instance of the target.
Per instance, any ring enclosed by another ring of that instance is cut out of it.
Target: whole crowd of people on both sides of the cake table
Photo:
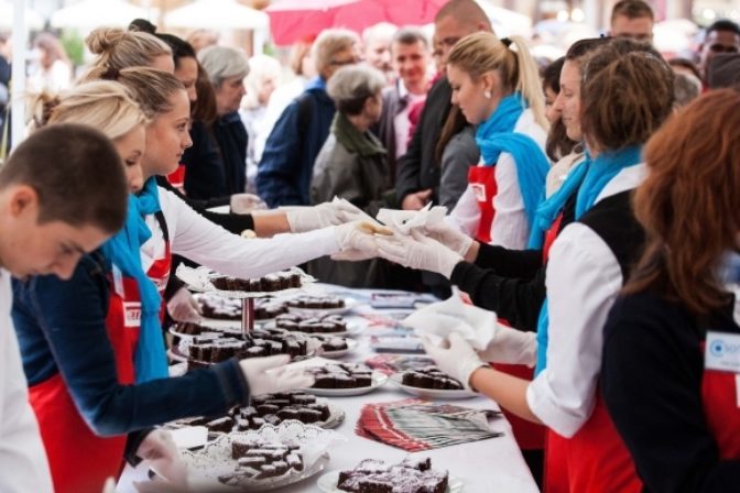
[[[170,377],[163,325],[199,317],[179,262],[458,286],[501,324],[426,352],[501,406],[545,492],[740,490],[740,26],[692,61],[653,23],[621,0],[608,35],[543,63],[450,0],[432,41],[304,40],[284,85],[273,58],[137,20],[92,31],[65,88],[40,37],[46,83],[0,171],[0,491],[100,492],[141,460],[182,484],[157,425],[312,384],[286,357]],[[429,205],[444,221],[372,219]]]

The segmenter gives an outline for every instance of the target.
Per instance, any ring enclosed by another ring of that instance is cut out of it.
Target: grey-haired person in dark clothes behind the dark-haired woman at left
[[[244,77],[249,62],[243,52],[226,46],[208,46],[198,52],[198,62],[208,74],[216,92],[217,119],[210,134],[218,146],[224,183],[210,190],[214,198],[243,194],[247,189],[247,129],[239,117],[241,99],[247,92]],[[197,165],[197,163],[194,163]]]

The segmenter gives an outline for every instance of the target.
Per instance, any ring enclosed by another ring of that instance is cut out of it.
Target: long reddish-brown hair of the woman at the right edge
[[[740,94],[711,91],[679,110],[645,147],[634,197],[648,244],[625,293],[653,288],[706,315],[729,298],[716,276],[740,230]]]

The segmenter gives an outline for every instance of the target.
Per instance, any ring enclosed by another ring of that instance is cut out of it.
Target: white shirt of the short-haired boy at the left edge
[[[15,328],[10,274],[0,270],[0,492],[52,492],[39,423],[29,403]]]

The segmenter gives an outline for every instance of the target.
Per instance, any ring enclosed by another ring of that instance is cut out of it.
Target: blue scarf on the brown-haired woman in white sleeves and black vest
[[[577,167],[570,171],[568,177],[566,178],[563,187],[558,190],[557,194],[554,194],[549,200],[554,200],[561,191],[564,194],[567,193],[565,198],[558,197],[558,200],[562,200],[563,204],[567,198],[578,189],[578,196],[576,197],[576,220],[580,219],[584,213],[586,213],[594,204],[599,194],[603,190],[611,179],[617,176],[622,169],[634,166],[642,161],[641,157],[642,146],[633,145],[625,147],[620,151],[610,151],[599,154],[595,160],[586,153],[586,161],[579,164]],[[567,189],[564,191],[564,188]],[[546,200],[543,204],[543,207],[547,204]],[[562,208],[563,206],[561,206]],[[559,209],[558,209],[559,211]],[[553,216],[557,216],[558,211]],[[552,221],[549,223],[552,226]],[[546,227],[545,231],[549,229],[549,226]],[[531,239],[532,240],[532,239]],[[547,343],[549,340],[548,337],[548,327],[549,327],[549,311],[547,308],[547,298],[542,304],[540,310],[540,318],[537,319],[537,365],[534,370],[534,374],[538,375],[547,366]]]

